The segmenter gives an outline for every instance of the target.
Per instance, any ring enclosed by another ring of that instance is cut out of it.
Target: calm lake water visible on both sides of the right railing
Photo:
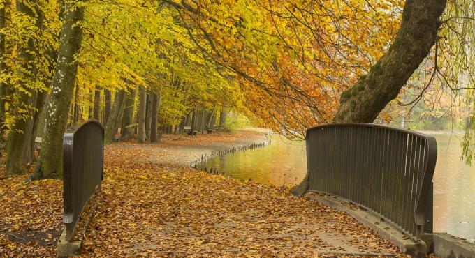
[[[434,174],[434,231],[475,241],[475,167],[460,160],[460,141],[449,133],[434,133],[438,157]],[[459,136],[460,137],[460,136]],[[201,167],[214,167],[238,179],[271,185],[295,185],[305,176],[305,142],[272,135],[261,149],[217,156]],[[450,144],[449,144],[450,142]]]

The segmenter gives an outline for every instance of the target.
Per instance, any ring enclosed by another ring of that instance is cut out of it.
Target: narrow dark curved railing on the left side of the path
[[[98,121],[86,121],[64,134],[63,202],[68,241],[89,198],[101,188],[103,157],[104,128]]]

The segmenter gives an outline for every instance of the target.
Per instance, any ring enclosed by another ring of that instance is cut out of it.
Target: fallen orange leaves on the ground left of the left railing
[[[0,257],[50,257],[61,233],[62,182],[0,177]]]

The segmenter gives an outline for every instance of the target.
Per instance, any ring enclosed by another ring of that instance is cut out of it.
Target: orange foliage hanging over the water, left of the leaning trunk
[[[240,75],[250,113],[273,129],[300,134],[332,120],[342,91],[393,40],[401,5],[392,0],[205,1],[188,15],[201,17],[195,26],[207,31],[205,42],[217,43],[213,58]]]

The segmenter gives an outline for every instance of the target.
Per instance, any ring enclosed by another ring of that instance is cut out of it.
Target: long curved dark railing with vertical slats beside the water
[[[418,239],[432,196],[434,137],[369,123],[307,130],[309,191],[344,197]]]

